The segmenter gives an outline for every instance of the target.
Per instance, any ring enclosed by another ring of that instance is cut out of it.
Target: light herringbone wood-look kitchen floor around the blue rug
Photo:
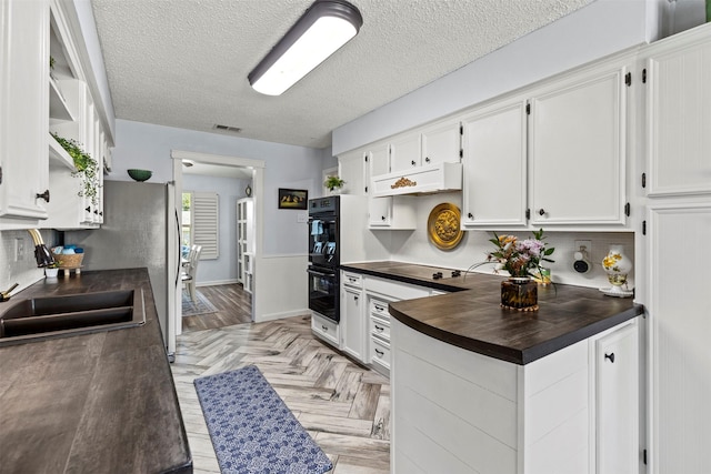
[[[196,377],[257,365],[333,463],[332,474],[388,473],[390,384],[311,334],[310,316],[178,337],[173,380],[196,473],[219,473]]]

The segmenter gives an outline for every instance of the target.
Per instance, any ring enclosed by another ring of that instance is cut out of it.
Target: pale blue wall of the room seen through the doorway
[[[237,200],[244,198],[244,188],[251,180],[183,174],[183,192],[207,191],[218,193],[219,250],[217,260],[201,260],[197,284],[236,283],[237,274]]]

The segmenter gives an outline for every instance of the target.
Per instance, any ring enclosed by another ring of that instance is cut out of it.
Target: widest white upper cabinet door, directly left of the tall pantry
[[[534,226],[625,223],[627,69],[599,71],[551,83],[530,100]]]

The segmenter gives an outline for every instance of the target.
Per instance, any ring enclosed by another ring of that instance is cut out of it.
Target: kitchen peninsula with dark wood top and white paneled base
[[[501,276],[342,268],[450,292],[389,304],[392,472],[637,471],[642,306],[558,284],[515,312]]]

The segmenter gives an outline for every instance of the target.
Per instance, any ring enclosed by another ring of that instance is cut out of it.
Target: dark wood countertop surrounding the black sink
[[[0,471],[192,472],[146,269],[42,280],[0,304],[134,288],[142,326],[0,347]]]

